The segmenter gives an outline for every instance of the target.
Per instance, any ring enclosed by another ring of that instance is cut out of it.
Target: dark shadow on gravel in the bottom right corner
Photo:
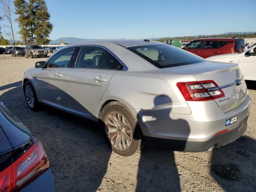
[[[235,142],[214,148],[211,176],[225,191],[255,191],[256,140],[242,136]]]

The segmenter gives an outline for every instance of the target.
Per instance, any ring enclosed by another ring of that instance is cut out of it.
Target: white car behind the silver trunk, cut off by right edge
[[[245,80],[256,81],[256,45],[244,52],[212,56],[206,60],[236,63],[239,65]]]

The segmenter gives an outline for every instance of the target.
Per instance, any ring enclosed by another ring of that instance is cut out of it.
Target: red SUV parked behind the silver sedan
[[[183,49],[202,58],[214,55],[241,52],[244,47],[244,39],[235,38],[211,38],[196,39],[187,44]]]

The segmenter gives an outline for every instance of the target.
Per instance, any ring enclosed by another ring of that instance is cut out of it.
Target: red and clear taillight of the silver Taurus
[[[208,101],[224,97],[221,89],[209,91],[209,88],[218,87],[213,80],[178,82],[177,86],[186,101]]]

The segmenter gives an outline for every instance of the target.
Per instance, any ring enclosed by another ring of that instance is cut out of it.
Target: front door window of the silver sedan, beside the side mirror
[[[75,47],[72,47],[58,52],[51,58],[48,67],[68,67],[75,49]]]

